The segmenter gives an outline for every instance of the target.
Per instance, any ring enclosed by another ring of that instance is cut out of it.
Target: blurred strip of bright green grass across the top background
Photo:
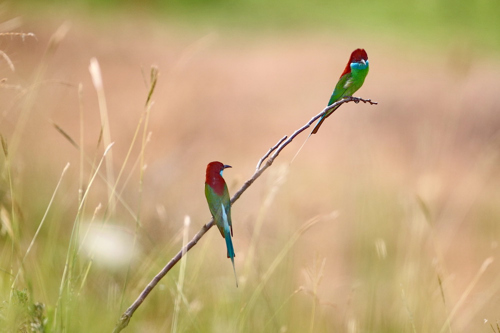
[[[65,5],[64,1],[53,3]],[[28,11],[29,8],[47,8],[37,1],[25,1],[20,6]],[[478,48],[477,53],[484,49],[500,49],[500,36],[496,33],[500,30],[500,21],[496,19],[500,15],[500,4],[495,0],[361,0],[355,4],[303,0],[153,0],[146,5],[140,1],[124,4],[120,1],[79,0],[71,2],[71,6],[93,15],[99,14],[103,20],[116,11],[125,14],[138,12],[185,26],[294,32],[320,29],[331,32],[338,41],[356,38],[359,34],[382,33],[434,47],[451,42],[457,47]]]

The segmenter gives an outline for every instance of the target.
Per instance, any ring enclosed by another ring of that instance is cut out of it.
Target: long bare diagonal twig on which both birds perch
[[[231,204],[233,204],[241,196],[241,194],[243,194],[243,192],[255,181],[255,179],[257,179],[262,174],[262,172],[264,172],[264,170],[266,168],[268,168],[272,164],[272,162],[277,157],[277,155],[281,152],[281,150],[283,150],[283,148],[288,143],[290,143],[295,136],[297,136],[300,132],[302,132],[307,127],[309,127],[314,122],[314,120],[316,120],[317,118],[319,118],[320,116],[322,116],[324,114],[324,112],[326,112],[330,108],[333,108],[333,107],[335,107],[337,105],[340,105],[342,103],[346,103],[346,102],[349,102],[349,101],[354,101],[355,103],[359,103],[360,101],[362,101],[364,103],[377,104],[377,102],[373,102],[373,101],[371,101],[371,99],[363,99],[363,98],[360,98],[360,97],[347,96],[347,97],[345,97],[345,98],[343,98],[343,99],[341,99],[339,101],[336,101],[333,104],[325,107],[321,112],[319,112],[317,115],[315,115],[314,117],[312,117],[305,125],[303,125],[299,129],[295,130],[293,132],[293,134],[291,134],[288,137],[288,139],[286,139],[286,137],[287,137],[286,135],[283,136],[282,138],[280,138],[278,140],[278,142],[276,144],[274,144],[259,159],[259,161],[257,163],[257,167],[255,168],[255,172],[253,172],[252,176],[250,178],[248,178],[248,180],[246,180],[244,182],[244,184],[236,191],[236,193],[234,193],[234,195],[231,198]],[[271,153],[273,151],[274,151],[274,153],[271,155]],[[270,155],[270,157],[269,157],[269,155]],[[266,158],[267,158],[267,161],[261,167],[262,162]],[[132,317],[133,312],[135,312],[135,310],[137,309],[137,307],[139,307],[139,305],[144,301],[144,299],[147,297],[147,295],[149,294],[149,292],[154,288],[154,286],[159,282],[159,280],[161,280],[161,278],[163,278],[163,276],[166,275],[166,273],[180,260],[180,258],[188,250],[190,250],[194,245],[196,245],[196,243],[198,242],[198,240],[201,239],[201,237],[205,234],[205,232],[208,231],[208,229],[211,228],[212,226],[213,226],[213,218],[210,219],[210,221],[208,221],[208,223],[204,224],[201,227],[201,229],[194,235],[194,237],[185,246],[183,246],[180,249],[180,251],[177,254],[175,254],[175,256],[173,258],[170,259],[170,261],[168,261],[168,263],[166,264],[166,266],[164,266],[163,269],[161,269],[161,271],[159,273],[157,273],[153,277],[153,279],[146,285],[146,287],[144,288],[144,290],[142,290],[142,292],[139,294],[139,296],[137,297],[137,299],[135,299],[135,301],[132,303],[132,305],[130,305],[126,309],[126,311],[123,312],[123,314],[120,316],[120,318],[118,319],[118,321],[116,322],[116,324],[114,326],[113,333],[120,332],[123,328],[125,328],[128,325],[128,322],[130,321],[130,318]]]

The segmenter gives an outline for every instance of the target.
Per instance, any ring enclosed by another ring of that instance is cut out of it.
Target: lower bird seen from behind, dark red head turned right
[[[231,258],[234,277],[236,278],[236,287],[238,278],[236,277],[236,268],[234,267],[234,247],[232,246],[232,222],[231,222],[231,201],[227,185],[222,178],[222,171],[231,167],[218,161],[208,163],[205,176],[205,197],[208,202],[208,208],[212,214],[213,220],[217,225],[222,237],[225,238],[227,247],[227,257]]]

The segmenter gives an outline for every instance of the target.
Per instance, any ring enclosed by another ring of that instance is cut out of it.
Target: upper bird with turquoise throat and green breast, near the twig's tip
[[[364,79],[366,78],[369,70],[368,64],[368,54],[366,54],[364,48],[356,48],[352,51],[344,71],[340,75],[337,84],[335,84],[335,88],[331,93],[330,100],[328,100],[327,106],[333,104],[336,101],[339,101],[344,97],[352,96],[352,94],[356,92],[361,87],[361,85],[363,85]],[[310,132],[309,136],[307,136],[300,149],[302,149],[309,137],[317,132],[324,119],[326,119],[331,113],[333,113],[333,111],[335,111],[338,106],[329,109],[321,116],[321,118],[319,118],[318,122],[316,123],[314,128],[312,128],[312,131]],[[295,159],[300,149],[298,149],[297,153],[292,158],[292,161],[293,159]]]

